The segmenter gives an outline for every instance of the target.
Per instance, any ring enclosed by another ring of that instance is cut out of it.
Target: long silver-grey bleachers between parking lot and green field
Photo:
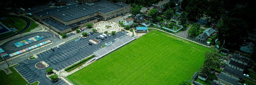
[[[133,37],[128,36],[128,35],[123,35],[119,38],[116,38],[111,45],[101,48],[98,51],[93,52],[93,54],[97,58],[101,58],[101,57],[105,56],[106,54],[114,51],[117,48],[122,47],[123,45],[125,45],[133,40],[135,40]]]

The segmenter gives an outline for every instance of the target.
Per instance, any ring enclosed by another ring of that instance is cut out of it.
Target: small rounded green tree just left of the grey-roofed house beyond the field
[[[195,23],[189,28],[188,34],[190,36],[196,37],[198,35],[198,30],[200,29],[200,25],[198,23]]]

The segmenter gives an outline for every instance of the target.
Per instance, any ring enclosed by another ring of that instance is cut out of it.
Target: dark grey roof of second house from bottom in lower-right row
[[[241,79],[244,79],[244,75],[243,75],[243,71],[237,70],[235,68],[232,68],[228,65],[226,65],[226,67],[223,70],[224,72],[227,72],[229,74],[235,75]]]

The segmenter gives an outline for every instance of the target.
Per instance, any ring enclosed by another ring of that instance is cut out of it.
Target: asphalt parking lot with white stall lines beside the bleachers
[[[92,55],[94,51],[97,51],[101,48],[105,42],[111,42],[117,37],[121,37],[124,35],[122,32],[117,32],[115,36],[108,37],[105,40],[99,40],[100,43],[89,45],[90,39],[96,39],[100,34],[93,34],[87,38],[81,38],[81,40],[72,40],[70,42],[66,42],[62,45],[59,45],[60,48],[54,47],[54,51],[45,50],[40,54],[37,54],[38,58],[34,60],[28,60],[20,62],[17,67],[17,71],[26,78],[29,83],[39,81],[40,85],[63,85],[63,81],[59,79],[57,82],[51,82],[46,76],[45,69],[37,69],[35,68],[35,64],[39,61],[46,62],[49,67],[52,67],[56,71],[60,71],[63,68],[68,67],[69,65]],[[49,68],[48,67],[48,68]]]

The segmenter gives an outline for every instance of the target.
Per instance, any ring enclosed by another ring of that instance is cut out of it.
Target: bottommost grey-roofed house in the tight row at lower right
[[[231,76],[229,74],[226,74],[224,72],[221,72],[221,74],[219,74],[218,81],[220,83],[223,83],[224,85],[241,85],[241,83],[239,83],[238,78],[233,77],[233,76]]]

